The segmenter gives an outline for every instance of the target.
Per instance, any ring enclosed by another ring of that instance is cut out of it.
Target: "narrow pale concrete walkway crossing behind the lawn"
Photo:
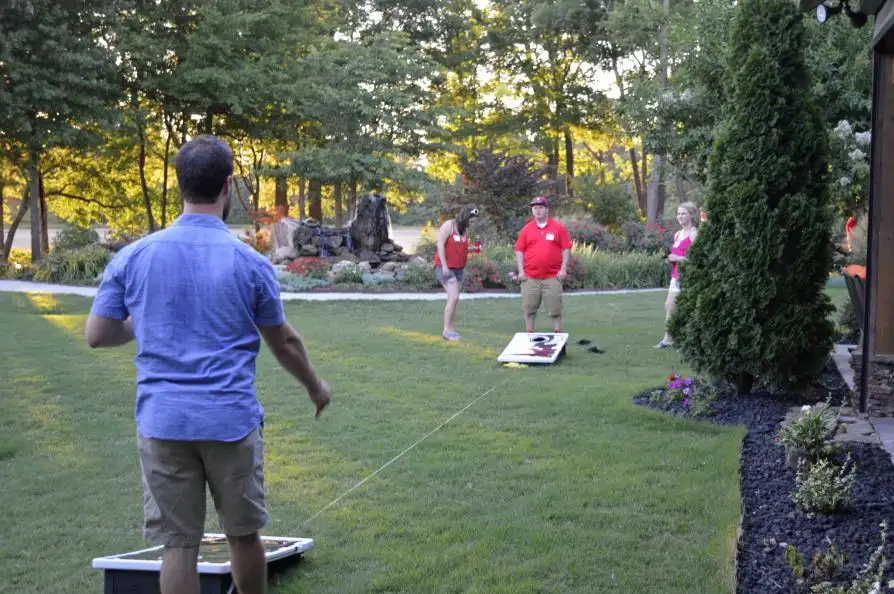
[[[592,295],[626,295],[631,293],[664,293],[667,289],[621,289],[616,291],[575,291],[566,297]],[[31,281],[0,280],[0,293],[53,293],[93,297],[96,287],[54,285]],[[443,301],[447,295],[435,293],[280,293],[283,301]],[[461,299],[515,299],[518,293],[463,293]]]

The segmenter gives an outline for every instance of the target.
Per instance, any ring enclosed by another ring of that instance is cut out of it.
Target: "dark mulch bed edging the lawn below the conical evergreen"
[[[814,382],[815,401],[831,396],[837,406],[847,396],[847,385],[833,362]],[[663,386],[656,388],[663,389]],[[638,394],[635,404],[657,408],[668,414],[687,414],[679,405],[652,403]],[[813,402],[806,402],[813,404]],[[847,562],[833,578],[836,584],[850,584],[880,543],[879,524],[887,519],[889,539],[885,557],[894,564],[894,465],[881,445],[843,443],[856,463],[857,481],[851,509],[829,515],[808,515],[792,502],[795,472],[785,462],[785,450],[775,443],[779,423],[792,406],[805,404],[788,394],[771,394],[758,387],[752,394],[735,397],[721,393],[714,414],[705,422],[741,424],[748,428],[740,465],[742,526],[737,555],[737,594],[809,592],[798,584],[786,561],[786,548],[793,544],[804,554],[809,566],[815,552],[827,552],[827,538],[847,554]],[[889,566],[885,581],[894,577]],[[891,592],[882,585],[882,592]]]

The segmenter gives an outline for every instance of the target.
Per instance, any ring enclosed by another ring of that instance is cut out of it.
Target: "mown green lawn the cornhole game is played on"
[[[271,591],[733,592],[744,430],[630,402],[679,365],[652,348],[663,300],[566,298],[569,356],[528,369],[495,360],[517,300],[461,302],[459,343],[443,302],[289,303],[336,395],[314,421],[263,352],[265,534],[316,539]],[[145,546],[133,347],[88,349],[89,304],[0,294],[0,589],[97,592],[93,557]]]

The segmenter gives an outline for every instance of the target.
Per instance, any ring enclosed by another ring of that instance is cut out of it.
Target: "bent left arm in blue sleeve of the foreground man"
[[[84,327],[84,337],[90,348],[121,346],[134,339],[133,320],[130,319],[124,303],[124,279],[120,260],[121,258],[115,258],[106,267],[96,298],[90,307]]]

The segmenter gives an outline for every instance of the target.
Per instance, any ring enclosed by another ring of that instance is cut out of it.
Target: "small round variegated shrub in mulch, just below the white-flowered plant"
[[[812,464],[801,460],[795,476],[792,501],[799,509],[808,513],[830,514],[841,511],[850,506],[856,480],[856,465],[850,454],[840,466],[826,458]]]

